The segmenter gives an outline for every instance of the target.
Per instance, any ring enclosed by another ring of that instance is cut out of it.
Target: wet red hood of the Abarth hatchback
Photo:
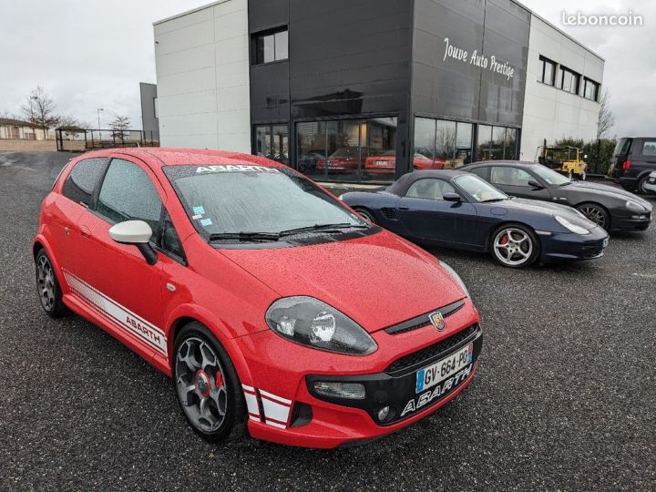
[[[369,333],[466,297],[433,255],[388,231],[309,246],[220,252],[281,297],[320,299]]]

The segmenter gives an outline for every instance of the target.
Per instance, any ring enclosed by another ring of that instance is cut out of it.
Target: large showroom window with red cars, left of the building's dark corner
[[[300,122],[296,145],[296,168],[312,179],[394,180],[396,118]]]

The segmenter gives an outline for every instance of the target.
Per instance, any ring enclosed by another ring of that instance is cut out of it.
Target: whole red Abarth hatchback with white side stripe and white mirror
[[[43,201],[36,283],[172,377],[210,441],[365,442],[446,404],[482,332],[456,272],[251,155],[112,149]]]

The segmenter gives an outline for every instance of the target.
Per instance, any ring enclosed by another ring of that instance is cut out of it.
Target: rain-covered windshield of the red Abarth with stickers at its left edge
[[[208,237],[280,234],[326,224],[368,228],[364,220],[292,169],[167,166],[164,172],[196,229]]]

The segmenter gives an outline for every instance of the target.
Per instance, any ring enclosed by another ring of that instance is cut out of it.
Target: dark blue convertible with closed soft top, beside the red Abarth
[[[457,170],[420,170],[384,190],[341,197],[364,218],[424,245],[488,251],[507,267],[600,258],[609,235],[579,211],[508,197]]]

